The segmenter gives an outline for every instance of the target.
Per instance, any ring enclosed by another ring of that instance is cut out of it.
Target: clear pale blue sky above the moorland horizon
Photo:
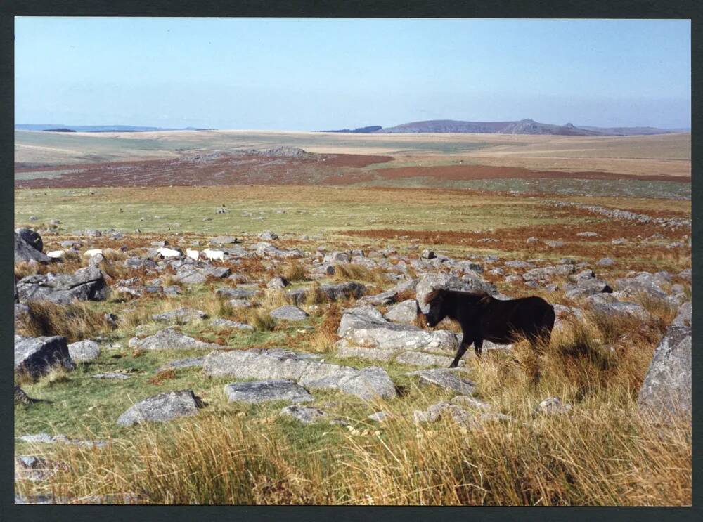
[[[15,18],[15,123],[690,127],[689,20]]]

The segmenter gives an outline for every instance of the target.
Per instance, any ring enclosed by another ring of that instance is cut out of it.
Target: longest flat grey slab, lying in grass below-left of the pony
[[[203,370],[209,377],[293,380],[307,389],[339,390],[363,399],[396,396],[393,381],[382,368],[357,370],[290,353],[212,352],[206,355]]]

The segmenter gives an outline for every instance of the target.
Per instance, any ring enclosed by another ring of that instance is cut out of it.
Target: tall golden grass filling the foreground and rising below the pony
[[[389,412],[384,424],[296,426],[290,436],[288,421],[206,411],[139,426],[102,450],[62,448],[69,465],[51,488],[159,504],[690,504],[690,424],[654,423],[636,405],[654,345],[642,337],[611,351],[633,325],[595,317],[566,320],[536,352],[519,343],[512,355],[470,360],[482,396],[511,422],[416,426],[392,400],[370,405]],[[535,414],[548,396],[574,407]]]

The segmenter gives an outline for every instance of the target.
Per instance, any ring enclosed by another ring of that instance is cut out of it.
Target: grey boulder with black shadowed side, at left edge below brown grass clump
[[[54,365],[63,366],[67,370],[75,367],[65,337],[15,335],[15,372],[27,372],[32,377],[39,377]]]

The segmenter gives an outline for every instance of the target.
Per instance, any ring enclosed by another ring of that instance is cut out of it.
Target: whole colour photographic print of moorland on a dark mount
[[[15,504],[692,504],[690,20],[14,53]]]

